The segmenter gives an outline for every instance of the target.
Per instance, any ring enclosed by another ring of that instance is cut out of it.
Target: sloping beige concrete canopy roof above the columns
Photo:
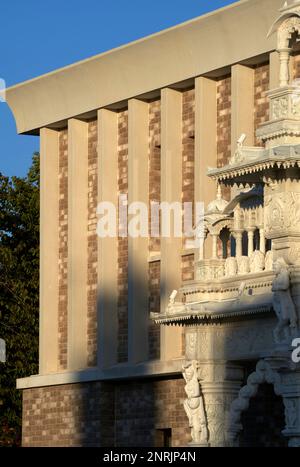
[[[276,48],[283,0],[242,0],[129,45],[7,89],[19,133],[224,70]],[[213,75],[217,76],[217,75]]]

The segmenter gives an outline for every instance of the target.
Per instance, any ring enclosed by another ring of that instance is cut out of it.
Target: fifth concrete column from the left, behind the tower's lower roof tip
[[[161,202],[181,202],[182,195],[182,95],[172,89],[161,91]],[[173,290],[181,286],[182,239],[161,238],[161,311]],[[161,360],[181,356],[182,329],[161,326]]]

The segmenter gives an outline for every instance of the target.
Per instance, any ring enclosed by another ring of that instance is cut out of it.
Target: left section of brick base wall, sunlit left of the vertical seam
[[[23,391],[23,446],[113,446],[112,391],[110,383]]]

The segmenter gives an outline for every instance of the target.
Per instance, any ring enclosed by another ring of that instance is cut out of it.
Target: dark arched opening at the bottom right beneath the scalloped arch
[[[240,447],[287,447],[284,404],[272,384],[261,384],[249,408],[241,414]]]

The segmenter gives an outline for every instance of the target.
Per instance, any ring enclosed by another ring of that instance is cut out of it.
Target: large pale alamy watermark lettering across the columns
[[[128,202],[119,196],[118,206],[101,202],[97,234],[100,238],[185,238],[199,247],[204,237],[204,203]]]

